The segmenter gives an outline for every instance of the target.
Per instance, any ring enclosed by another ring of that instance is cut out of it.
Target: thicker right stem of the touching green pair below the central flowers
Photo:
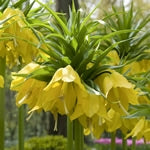
[[[74,140],[75,140],[75,150],[83,150],[84,145],[83,127],[78,120],[74,121]]]

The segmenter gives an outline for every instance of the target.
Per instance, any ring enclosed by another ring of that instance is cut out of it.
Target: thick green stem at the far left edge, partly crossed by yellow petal
[[[5,58],[0,57],[0,75],[5,79]],[[5,141],[5,87],[0,88],[0,150],[4,150]]]

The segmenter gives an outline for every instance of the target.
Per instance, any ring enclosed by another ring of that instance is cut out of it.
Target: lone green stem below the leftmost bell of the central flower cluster
[[[18,108],[18,148],[24,150],[24,106]]]

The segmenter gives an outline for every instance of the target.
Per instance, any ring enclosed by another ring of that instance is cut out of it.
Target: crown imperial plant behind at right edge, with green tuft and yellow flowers
[[[110,63],[124,65],[118,71],[132,82],[138,91],[137,105],[130,105],[128,119],[123,119],[122,133],[127,134],[126,138],[132,136],[134,139],[145,138],[149,141],[149,72],[150,72],[150,45],[149,45],[149,30],[148,25],[150,15],[141,18],[138,16],[139,11],[134,11],[133,3],[129,10],[118,11],[113,7],[113,13],[106,13],[104,21],[108,27],[105,34],[118,30],[131,29],[130,33],[115,35],[112,38],[113,42],[126,40],[118,44],[114,51],[109,56]],[[147,28],[146,28],[147,26]],[[145,32],[146,31],[146,32]],[[104,35],[105,35],[104,34]],[[127,40],[128,39],[128,40]],[[103,44],[104,48],[109,47],[112,43],[106,41]],[[132,123],[130,123],[132,121]],[[128,125],[127,125],[128,124]],[[143,132],[144,131],[144,132]]]

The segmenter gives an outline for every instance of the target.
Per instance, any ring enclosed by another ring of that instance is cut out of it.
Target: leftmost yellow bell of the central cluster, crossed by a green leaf
[[[30,63],[20,70],[18,74],[29,74],[38,68],[40,68],[40,65]],[[16,96],[16,105],[21,106],[22,104],[27,104],[30,109],[35,107],[36,103],[41,98],[41,93],[46,85],[46,82],[36,79],[31,78],[27,80],[24,77],[14,77],[14,80],[11,83],[11,90],[18,92]]]

